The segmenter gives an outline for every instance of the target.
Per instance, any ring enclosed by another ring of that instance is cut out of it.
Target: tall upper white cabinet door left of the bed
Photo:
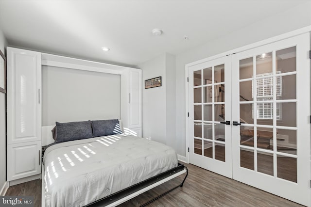
[[[41,140],[41,53],[7,48],[7,143]]]

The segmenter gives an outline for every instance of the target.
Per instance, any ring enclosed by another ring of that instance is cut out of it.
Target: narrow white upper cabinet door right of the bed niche
[[[129,128],[141,127],[141,70],[130,69]]]

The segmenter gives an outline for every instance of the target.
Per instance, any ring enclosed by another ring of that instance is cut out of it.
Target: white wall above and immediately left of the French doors
[[[204,45],[176,55],[176,137],[177,153],[186,155],[185,141],[185,64],[207,58],[234,48],[239,48],[258,42],[282,33],[310,26],[311,1],[299,4],[289,10],[283,11],[255,22],[235,32],[224,34]],[[247,16],[245,16],[247,18]]]

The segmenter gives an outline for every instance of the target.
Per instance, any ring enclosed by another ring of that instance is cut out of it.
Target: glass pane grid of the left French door
[[[225,162],[225,64],[194,71],[193,82],[194,153]]]

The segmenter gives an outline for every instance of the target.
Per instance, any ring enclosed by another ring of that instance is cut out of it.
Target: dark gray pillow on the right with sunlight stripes
[[[91,123],[94,137],[101,137],[122,133],[118,119],[97,120],[91,121]]]

